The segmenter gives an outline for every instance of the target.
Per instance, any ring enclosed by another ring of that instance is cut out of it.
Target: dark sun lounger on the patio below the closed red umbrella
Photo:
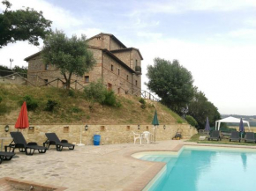
[[[26,143],[24,136],[20,132],[10,132],[10,134],[13,140],[8,146],[4,146],[5,151],[9,148],[9,151],[12,149],[12,152],[14,152],[16,148],[19,148],[20,152],[25,152],[26,155],[33,155],[35,150],[39,153],[45,153],[47,150],[46,147],[38,146],[37,143]]]

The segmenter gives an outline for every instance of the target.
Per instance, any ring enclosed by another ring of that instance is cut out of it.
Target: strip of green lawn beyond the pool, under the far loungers
[[[230,140],[227,139],[227,138],[222,138],[222,141],[208,141],[207,138],[203,141],[200,141],[200,135],[199,134],[196,134],[196,135],[192,136],[191,139],[188,140],[187,142],[256,146],[255,143],[245,143],[244,139],[241,140],[241,143],[239,143],[239,142],[230,142]]]

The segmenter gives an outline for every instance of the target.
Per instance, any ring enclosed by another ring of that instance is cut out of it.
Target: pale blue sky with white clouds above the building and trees
[[[12,10],[31,7],[68,36],[112,33],[139,48],[142,89],[155,57],[177,59],[194,85],[221,114],[256,114],[255,0],[10,0]],[[0,12],[4,6],[0,5]],[[0,49],[0,64],[27,66],[42,47],[19,41]]]

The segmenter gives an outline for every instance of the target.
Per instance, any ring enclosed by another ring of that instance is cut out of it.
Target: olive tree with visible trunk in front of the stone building
[[[96,63],[93,53],[87,48],[86,36],[68,38],[64,32],[51,33],[44,41],[43,61],[60,70],[67,89],[70,88],[72,75],[83,75],[94,68]]]

